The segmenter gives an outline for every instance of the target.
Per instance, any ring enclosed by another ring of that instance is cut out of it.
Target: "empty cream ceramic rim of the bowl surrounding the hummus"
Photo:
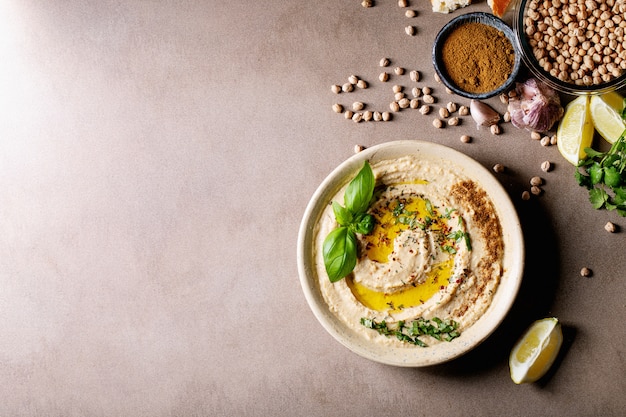
[[[347,327],[326,304],[320,291],[315,267],[315,226],[320,215],[339,189],[363,166],[365,160],[381,160],[417,155],[425,160],[456,165],[461,172],[481,184],[489,194],[502,224],[504,238],[504,275],[485,314],[461,336],[450,343],[427,348],[417,346],[379,346]],[[492,173],[477,161],[451,148],[421,141],[388,142],[368,148],[339,165],[319,186],[309,202],[298,236],[298,272],[304,295],[322,326],[353,352],[389,365],[420,367],[457,358],[484,341],[502,322],[517,295],[522,280],[524,242],[515,208],[504,188]]]

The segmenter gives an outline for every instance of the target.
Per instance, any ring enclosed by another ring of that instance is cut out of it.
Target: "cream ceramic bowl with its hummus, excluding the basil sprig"
[[[365,163],[374,195],[369,234],[356,233],[352,272],[331,282],[323,246],[339,227],[333,202]],[[315,191],[300,225],[300,282],[320,324],[376,362],[406,367],[455,359],[500,325],[517,296],[524,242],[515,208],[491,172],[430,142],[368,148]]]

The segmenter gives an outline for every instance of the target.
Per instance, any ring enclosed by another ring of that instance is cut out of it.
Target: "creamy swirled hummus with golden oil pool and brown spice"
[[[453,320],[463,332],[489,307],[502,275],[502,230],[487,193],[449,163],[416,156],[372,165],[373,232],[358,235],[354,271],[332,283],[322,243],[337,222],[331,201],[322,213],[315,264],[331,311],[364,337],[404,344],[362,324],[390,328],[420,319]],[[332,200],[343,201],[345,188]],[[428,345],[439,341],[421,337]]]

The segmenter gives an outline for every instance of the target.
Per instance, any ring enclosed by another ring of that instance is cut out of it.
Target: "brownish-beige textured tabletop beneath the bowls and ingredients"
[[[590,208],[556,147],[510,125],[493,137],[470,119],[436,130],[415,111],[358,125],[331,111],[386,109],[410,85],[377,81],[385,56],[420,70],[438,105],[465,102],[430,63],[454,14],[413,3],[414,19],[391,0],[0,1],[0,415],[621,415],[626,222]],[[334,96],[353,73],[371,88]],[[338,345],[297,276],[315,188],[355,144],[393,139],[506,165],[527,240],[503,326],[428,369]],[[544,195],[521,201],[534,175]],[[545,315],[565,325],[563,355],[515,386],[508,352]]]

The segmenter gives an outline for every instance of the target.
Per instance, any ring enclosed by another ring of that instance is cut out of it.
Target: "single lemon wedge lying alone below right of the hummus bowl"
[[[516,384],[535,382],[548,372],[563,343],[559,320],[534,322],[515,344],[509,356],[511,379]]]

